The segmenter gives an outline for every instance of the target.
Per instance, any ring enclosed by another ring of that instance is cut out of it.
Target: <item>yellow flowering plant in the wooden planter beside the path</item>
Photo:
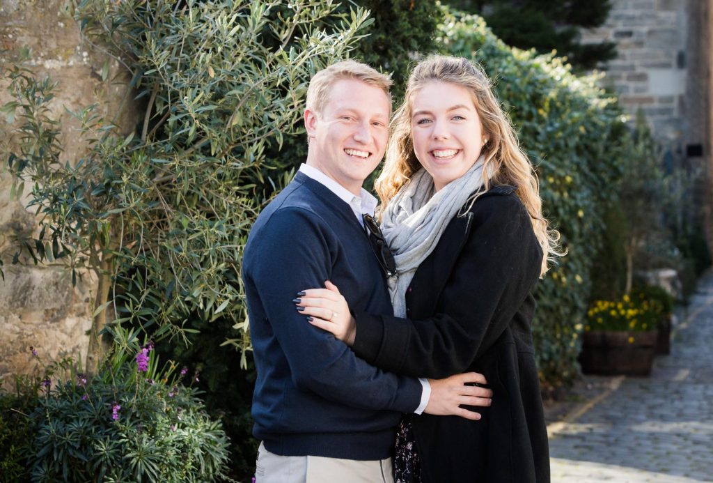
[[[655,330],[669,312],[662,300],[650,297],[645,290],[623,295],[620,300],[595,300],[587,311],[585,331]]]

